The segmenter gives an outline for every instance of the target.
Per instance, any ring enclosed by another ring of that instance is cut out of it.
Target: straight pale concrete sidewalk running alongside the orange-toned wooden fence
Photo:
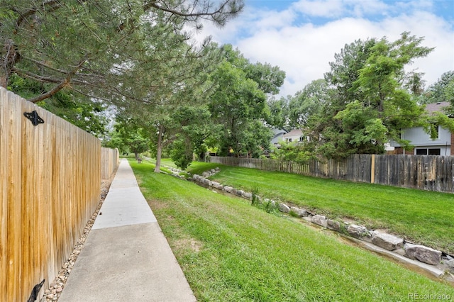
[[[196,301],[127,160],[58,301]]]

